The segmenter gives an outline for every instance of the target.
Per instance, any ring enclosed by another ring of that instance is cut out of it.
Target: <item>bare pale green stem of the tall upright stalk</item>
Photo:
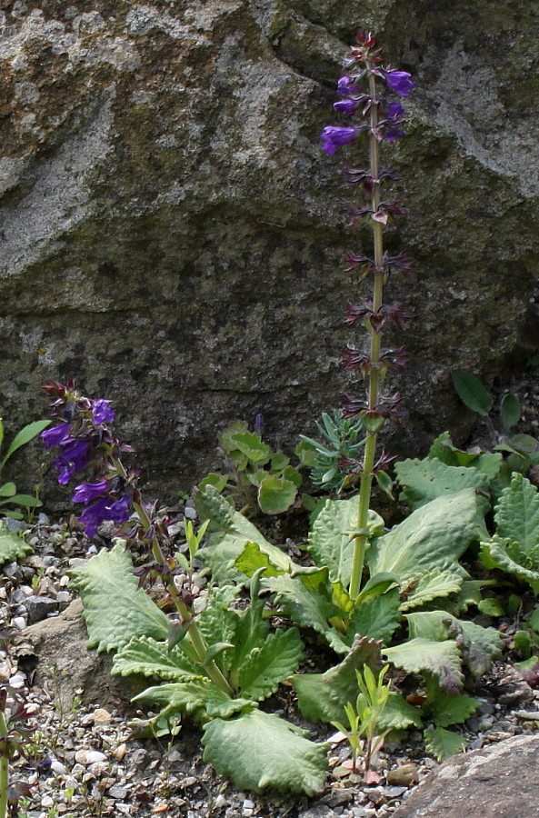
[[[372,66],[367,63],[367,68]],[[371,209],[376,213],[380,205],[380,180],[379,180],[379,157],[378,140],[374,136],[374,129],[378,124],[378,100],[376,99],[376,81],[374,75],[369,74],[369,95],[372,99],[371,105],[371,133],[369,134],[369,159],[370,175],[373,179],[373,192],[371,195]],[[383,303],[384,297],[384,225],[373,219],[374,238],[374,285],[373,285],[373,310],[377,312]],[[372,324],[369,322],[368,330],[371,336],[371,366],[368,374],[368,405],[369,409],[374,409],[378,404],[380,395],[380,333],[375,333]],[[361,580],[364,571],[364,555],[368,541],[366,534],[369,507],[371,504],[371,491],[373,487],[373,466],[376,453],[377,432],[367,432],[364,447],[364,462],[361,481],[359,485],[359,508],[357,514],[357,531],[360,532],[355,537],[354,557],[352,561],[352,575],[350,577],[349,593],[355,599],[361,588]]]

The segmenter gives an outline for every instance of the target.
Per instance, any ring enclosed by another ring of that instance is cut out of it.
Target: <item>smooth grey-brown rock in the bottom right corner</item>
[[[536,735],[454,755],[397,807],[394,818],[537,818],[538,761]]]

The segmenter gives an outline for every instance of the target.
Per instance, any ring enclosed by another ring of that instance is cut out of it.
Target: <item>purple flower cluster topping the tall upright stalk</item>
[[[369,75],[378,76],[395,94],[409,96],[414,88],[414,83],[410,79],[411,75],[407,71],[397,71],[395,68],[376,65],[381,57],[379,50],[374,48],[375,40],[371,35],[359,32],[357,40],[359,47],[353,48],[344,61],[344,68],[354,68],[354,73],[347,71],[344,76],[340,77],[337,83],[337,93],[344,96],[345,99],[334,103],[334,111],[347,116],[359,112],[364,116],[372,105],[384,105],[385,116],[379,118],[374,129],[369,125],[328,125],[325,127],[321,134],[322,147],[330,156],[334,155],[337,148],[349,145],[359,135],[369,131],[378,141],[385,139],[388,142],[394,142],[395,139],[404,136],[404,131],[399,127],[404,119],[403,105],[396,102],[386,103],[375,99],[372,94],[361,93],[360,83],[365,77],[368,79]]]

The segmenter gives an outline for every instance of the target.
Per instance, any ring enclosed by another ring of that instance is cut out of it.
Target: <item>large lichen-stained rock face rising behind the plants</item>
[[[262,412],[270,437],[294,443],[339,404],[350,387],[338,359],[353,340],[341,307],[358,297],[342,257],[370,248],[368,233],[344,229],[353,197],[340,169],[353,155],[327,158],[319,133],[338,124],[334,83],[359,26],[417,83],[408,137],[386,155],[410,211],[389,242],[416,262],[390,294],[415,315],[397,450],[445,427],[464,434],[451,369],[490,383],[534,353],[534,5],[365,0],[353,11],[1,0],[8,427],[45,414],[47,378],[76,374],[115,402],[150,483],[172,494],[215,462],[217,430],[235,417]]]

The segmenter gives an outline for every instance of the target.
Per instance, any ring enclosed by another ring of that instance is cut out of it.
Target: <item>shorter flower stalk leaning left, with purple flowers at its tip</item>
[[[122,454],[134,449],[113,436],[110,424],[115,420],[115,411],[110,402],[85,397],[73,382],[49,381],[43,388],[54,398],[53,417],[60,421],[41,434],[46,448],[57,446],[60,450],[55,460],[58,483],[67,484],[83,470],[93,478],[92,483],[75,486],[71,498],[74,503],[85,504],[79,516],[79,521],[85,524],[85,533],[93,537],[99,524],[112,521],[120,525],[117,534],[127,540],[137,539],[147,548],[154,562],[144,566],[141,576],[158,574],[161,577],[179,616],[177,628],[188,636],[197,660],[204,665],[212,682],[225,693],[232,693],[215,661],[208,661],[208,646],[195,622],[194,597],[175,585],[175,572],[180,569],[173,560],[166,559],[161,548],[156,504],[143,501],[137,486],[140,473],[126,469],[122,463]]]

